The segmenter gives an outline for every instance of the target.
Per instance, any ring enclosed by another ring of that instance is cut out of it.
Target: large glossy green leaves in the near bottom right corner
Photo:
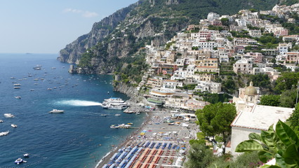
[[[249,140],[242,141],[236,148],[236,152],[258,151],[260,161],[267,162],[275,158],[276,166],[264,165],[263,167],[299,167],[299,139],[295,132],[285,123],[277,123],[275,130],[273,125],[267,131],[260,134],[249,134]]]

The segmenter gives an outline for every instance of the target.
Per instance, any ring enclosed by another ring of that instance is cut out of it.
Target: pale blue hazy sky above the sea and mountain
[[[0,0],[0,53],[59,53],[138,0]]]

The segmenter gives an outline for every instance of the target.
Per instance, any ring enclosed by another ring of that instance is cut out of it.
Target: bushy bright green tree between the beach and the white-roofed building
[[[221,134],[223,142],[226,144],[227,137],[232,132],[230,124],[237,116],[234,104],[209,104],[204,106],[204,109],[197,110],[195,114],[202,132],[208,136]]]

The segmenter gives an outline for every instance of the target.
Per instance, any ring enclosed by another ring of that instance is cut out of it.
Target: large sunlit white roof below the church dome
[[[251,111],[241,111],[232,127],[244,127],[254,130],[268,130],[268,128],[281,120],[285,122],[293,113],[294,109],[277,106],[253,106]]]

